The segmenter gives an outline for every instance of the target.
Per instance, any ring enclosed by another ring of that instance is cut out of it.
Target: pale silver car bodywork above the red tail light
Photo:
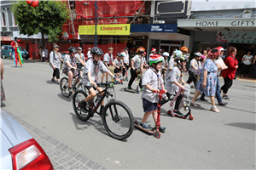
[[[0,111],[0,129],[13,146],[32,139],[26,129],[4,111]]]

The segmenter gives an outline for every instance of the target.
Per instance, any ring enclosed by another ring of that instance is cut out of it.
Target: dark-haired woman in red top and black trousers
[[[224,99],[230,99],[227,93],[232,86],[233,79],[235,78],[236,75],[236,69],[238,68],[238,60],[236,59],[236,53],[236,48],[230,46],[227,50],[227,56],[224,60],[225,65],[228,66],[228,69],[222,71],[221,73],[222,77],[224,78],[224,85],[220,88],[220,90],[223,90]]]

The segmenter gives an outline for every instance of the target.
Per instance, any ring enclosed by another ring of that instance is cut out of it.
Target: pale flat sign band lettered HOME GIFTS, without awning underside
[[[256,19],[177,20],[178,27],[255,27]]]

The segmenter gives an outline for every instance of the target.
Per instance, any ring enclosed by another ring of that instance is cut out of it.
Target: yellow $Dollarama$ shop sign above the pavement
[[[130,35],[130,24],[97,25],[97,35]],[[79,26],[79,35],[95,35],[95,26]]]

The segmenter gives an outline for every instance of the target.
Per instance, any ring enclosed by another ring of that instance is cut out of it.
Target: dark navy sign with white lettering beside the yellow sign
[[[177,32],[177,24],[145,24],[131,25],[131,32]]]

